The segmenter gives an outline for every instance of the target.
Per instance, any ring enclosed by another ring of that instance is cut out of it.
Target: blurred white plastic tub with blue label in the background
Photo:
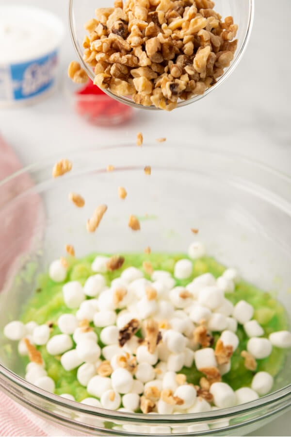
[[[62,21],[48,11],[0,6],[0,106],[43,98],[56,83]]]

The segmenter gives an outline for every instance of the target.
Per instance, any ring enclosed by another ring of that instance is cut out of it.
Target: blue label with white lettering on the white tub
[[[54,82],[57,51],[22,64],[10,66],[14,100],[28,99],[47,90]]]

